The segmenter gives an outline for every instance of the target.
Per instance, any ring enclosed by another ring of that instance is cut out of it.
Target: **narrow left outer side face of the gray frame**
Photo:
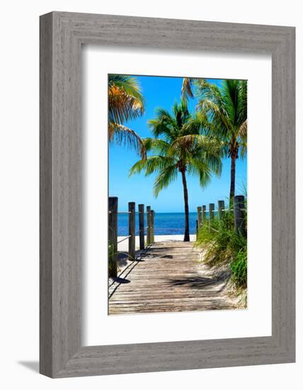
[[[52,16],[40,23],[40,372],[52,375]]]

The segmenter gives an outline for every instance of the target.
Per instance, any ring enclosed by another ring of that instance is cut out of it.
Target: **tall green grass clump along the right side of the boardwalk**
[[[245,213],[246,226],[246,213]],[[234,213],[225,211],[221,219],[208,218],[199,228],[196,245],[205,250],[204,258],[211,266],[229,264],[236,289],[247,287],[247,238],[234,231]]]

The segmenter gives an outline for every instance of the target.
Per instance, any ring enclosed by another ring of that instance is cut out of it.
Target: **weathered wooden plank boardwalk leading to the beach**
[[[110,279],[108,313],[235,308],[226,294],[227,272],[215,274],[200,256],[193,243],[154,243]]]

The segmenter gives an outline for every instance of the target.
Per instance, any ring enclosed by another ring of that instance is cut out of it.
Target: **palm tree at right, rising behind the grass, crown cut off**
[[[198,109],[207,114],[214,135],[222,140],[222,152],[231,159],[229,198],[232,203],[235,191],[236,160],[247,150],[247,82],[223,80],[217,87],[205,79],[183,79],[183,96],[195,96]]]

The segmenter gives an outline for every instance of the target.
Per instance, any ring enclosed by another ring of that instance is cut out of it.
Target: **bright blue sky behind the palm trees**
[[[180,101],[181,77],[151,77],[138,76],[142,94],[145,99],[145,113],[141,118],[125,123],[125,126],[132,128],[142,138],[151,137],[147,121],[154,118],[157,107],[166,108],[171,111],[175,101]],[[208,79],[210,82],[220,84],[220,80]],[[196,101],[190,99],[188,107],[191,112],[195,111]],[[153,195],[153,184],[156,174],[149,177],[144,172],[128,177],[129,169],[139,160],[134,150],[127,150],[123,146],[110,146],[109,149],[109,194],[118,196],[119,209],[127,210],[129,201],[137,204],[150,205],[158,213],[161,212],[183,212],[183,186],[181,175],[176,182],[171,183],[167,189],[160,192],[158,198]],[[236,194],[243,194],[246,187],[246,158],[236,161]],[[223,160],[221,177],[213,177],[212,182],[202,188],[199,185],[198,177],[188,175],[188,196],[189,209],[196,211],[197,206],[202,204],[217,203],[218,200],[227,200],[230,186],[230,160]]]

